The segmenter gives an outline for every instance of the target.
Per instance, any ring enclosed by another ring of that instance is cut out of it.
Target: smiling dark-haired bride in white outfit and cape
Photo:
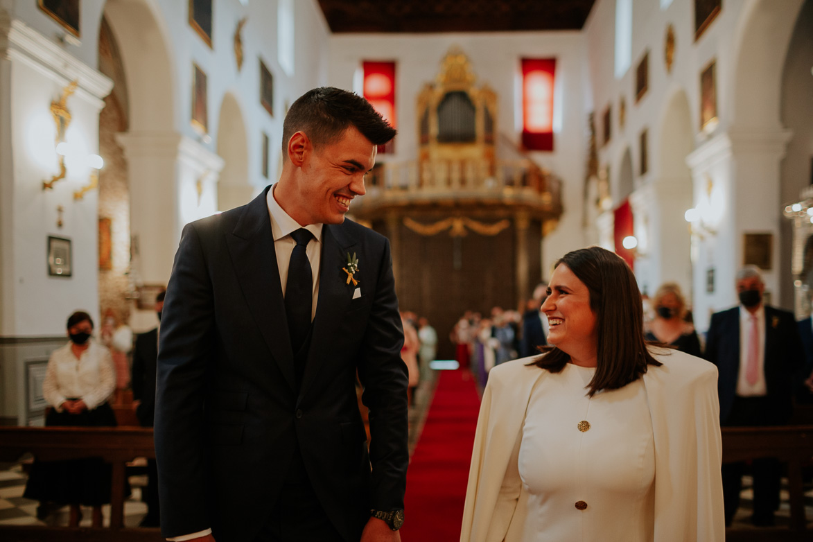
[[[724,540],[715,366],[646,345],[605,249],[560,259],[541,310],[553,346],[489,375],[460,540]]]

